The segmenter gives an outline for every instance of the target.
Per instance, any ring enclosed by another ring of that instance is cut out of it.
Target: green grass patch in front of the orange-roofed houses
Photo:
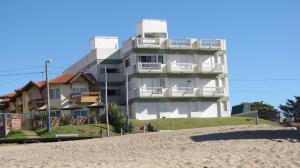
[[[52,127],[50,132],[46,128],[37,128],[34,131],[43,138],[55,137],[55,134],[78,134],[80,137],[100,137],[100,130],[106,135],[106,124],[66,125]],[[110,135],[115,136],[114,128],[110,126]]]

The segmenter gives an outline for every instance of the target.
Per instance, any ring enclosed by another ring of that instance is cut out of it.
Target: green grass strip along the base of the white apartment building
[[[174,130],[216,127],[226,125],[254,125],[255,118],[246,117],[224,117],[224,118],[174,118],[174,119],[156,119],[156,120],[131,120],[132,132],[141,132],[143,125],[151,123],[155,129],[170,130],[173,125]],[[276,125],[270,121],[259,119],[259,124]]]

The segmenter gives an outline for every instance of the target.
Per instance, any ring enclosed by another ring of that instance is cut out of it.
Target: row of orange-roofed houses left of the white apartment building
[[[73,116],[87,115],[90,104],[100,101],[96,79],[88,73],[64,73],[49,81],[51,111],[57,116],[61,111],[73,111]],[[28,82],[14,93],[0,96],[3,112],[27,113],[46,110],[46,82]],[[74,108],[76,106],[76,109]]]

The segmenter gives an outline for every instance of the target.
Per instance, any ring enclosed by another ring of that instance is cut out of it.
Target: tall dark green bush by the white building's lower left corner
[[[120,132],[121,128],[126,131],[126,116],[117,104],[108,105],[108,121],[116,132]],[[101,116],[101,122],[106,123],[105,113]]]

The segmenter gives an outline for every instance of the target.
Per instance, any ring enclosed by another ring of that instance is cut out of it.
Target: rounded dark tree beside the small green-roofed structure
[[[278,119],[279,111],[263,101],[251,103],[251,110],[257,110],[259,118],[271,121]]]

